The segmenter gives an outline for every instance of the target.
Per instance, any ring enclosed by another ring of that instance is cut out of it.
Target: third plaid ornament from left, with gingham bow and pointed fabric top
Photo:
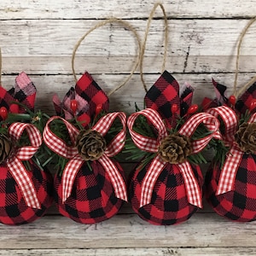
[[[202,207],[201,190],[203,177],[199,166],[190,164],[187,159],[171,163],[160,156],[161,142],[170,135],[183,115],[184,124],[175,132],[179,137],[190,139],[198,125],[207,126],[211,134],[194,141],[190,154],[196,154],[218,130],[218,120],[211,114],[196,113],[193,118],[188,114],[193,90],[190,86],[179,96],[177,81],[168,72],[148,90],[145,96],[147,108],[132,113],[127,126],[133,143],[137,148],[152,153],[153,157],[146,166],[143,160],[131,174],[129,200],[135,212],[150,224],[180,224],[189,219]],[[175,112],[172,105],[175,104]],[[146,119],[153,126],[155,137],[146,137],[135,129],[138,119]]]

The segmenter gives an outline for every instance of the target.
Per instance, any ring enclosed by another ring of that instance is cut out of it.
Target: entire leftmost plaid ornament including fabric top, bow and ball
[[[31,223],[44,216],[53,201],[51,175],[32,160],[42,143],[40,132],[32,124],[9,124],[7,119],[9,113],[17,114],[18,117],[19,113],[26,113],[27,109],[33,111],[35,96],[36,88],[26,73],[18,75],[12,89],[0,87],[1,114],[3,110],[7,113],[6,116],[1,115],[0,137],[8,137],[12,145],[8,157],[3,159],[5,144],[1,144],[0,222],[3,224]]]

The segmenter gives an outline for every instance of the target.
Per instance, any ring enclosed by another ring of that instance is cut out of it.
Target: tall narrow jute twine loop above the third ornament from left
[[[145,35],[144,35],[144,40],[143,40],[142,50],[141,50],[141,58],[140,58],[141,80],[143,82],[143,87],[144,87],[144,90],[146,92],[148,91],[148,89],[147,89],[147,85],[145,83],[144,76],[143,76],[143,59],[144,59],[144,54],[145,54],[145,49],[146,49],[146,43],[147,43],[147,39],[148,39],[148,32],[149,32],[150,24],[151,24],[151,21],[154,18],[155,10],[158,7],[160,7],[160,9],[162,10],[163,15],[164,15],[164,20],[165,20],[165,46],[164,46],[164,56],[163,56],[163,64],[162,64],[161,72],[163,73],[166,69],[166,55],[167,55],[167,45],[168,45],[168,20],[167,20],[166,10],[165,10],[163,4],[162,3],[155,3],[154,8],[152,9],[152,11],[151,11],[151,13],[148,17],[148,24],[147,24],[147,28],[146,28]]]

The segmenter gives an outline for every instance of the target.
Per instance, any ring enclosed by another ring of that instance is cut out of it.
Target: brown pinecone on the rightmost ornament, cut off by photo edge
[[[241,151],[256,154],[256,123],[243,123],[235,134],[235,141]]]

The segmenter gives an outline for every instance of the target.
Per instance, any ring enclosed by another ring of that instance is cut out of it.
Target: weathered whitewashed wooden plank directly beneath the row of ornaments
[[[0,232],[1,249],[256,247],[254,223],[230,223],[215,213],[195,214],[177,226],[155,226],[135,214],[90,225],[46,216],[21,226],[1,224]]]

